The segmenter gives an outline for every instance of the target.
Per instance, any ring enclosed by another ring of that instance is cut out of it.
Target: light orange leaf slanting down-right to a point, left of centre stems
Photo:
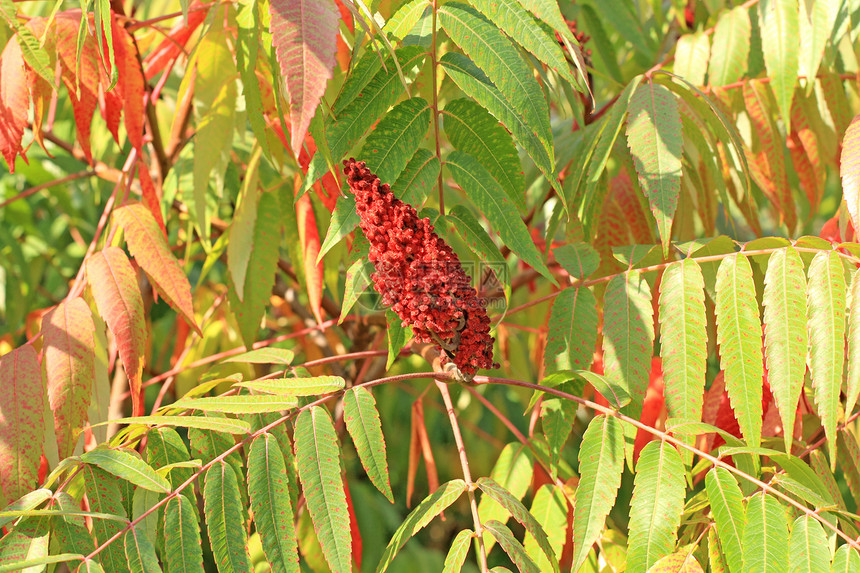
[[[114,217],[125,230],[128,249],[134,260],[158,289],[158,294],[200,333],[191,304],[191,285],[170,245],[161,233],[158,221],[140,203],[130,203],[114,211]]]

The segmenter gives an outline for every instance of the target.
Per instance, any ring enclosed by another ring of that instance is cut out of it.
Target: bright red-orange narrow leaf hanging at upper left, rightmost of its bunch
[[[122,92],[123,110],[125,112],[125,131],[131,145],[138,154],[143,153],[143,121],[145,114],[144,98],[146,98],[145,80],[140,69],[137,54],[137,44],[125,28],[111,22],[116,58],[119,72],[119,89]]]

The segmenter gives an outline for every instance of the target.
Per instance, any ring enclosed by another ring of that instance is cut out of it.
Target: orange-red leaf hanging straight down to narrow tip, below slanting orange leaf
[[[87,277],[99,315],[116,339],[116,347],[128,375],[132,415],[143,414],[141,379],[146,351],[146,322],[137,275],[117,247],[108,247],[87,260]]]

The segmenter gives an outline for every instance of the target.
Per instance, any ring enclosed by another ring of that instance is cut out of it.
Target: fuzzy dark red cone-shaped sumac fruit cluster
[[[490,318],[451,247],[363,161],[343,164],[383,304],[412,327],[418,342],[436,344],[463,374],[498,368]]]

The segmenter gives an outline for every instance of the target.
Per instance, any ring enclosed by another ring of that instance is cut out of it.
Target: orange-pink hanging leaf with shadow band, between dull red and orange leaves
[[[80,297],[61,302],[42,320],[42,360],[60,458],[74,452],[87,420],[95,377],[95,325]]]

